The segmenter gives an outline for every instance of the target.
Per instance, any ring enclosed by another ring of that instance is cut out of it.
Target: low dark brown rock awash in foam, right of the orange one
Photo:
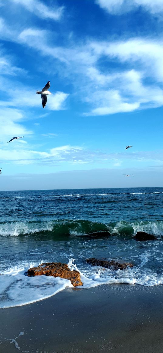
[[[86,262],[88,262],[89,264],[93,265],[93,266],[102,266],[105,268],[110,268],[111,270],[124,270],[127,267],[133,267],[133,264],[130,262],[117,262],[114,260],[98,260],[95,259],[94,257],[86,259]]]

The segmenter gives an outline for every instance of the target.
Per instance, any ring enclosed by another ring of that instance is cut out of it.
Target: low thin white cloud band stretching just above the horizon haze
[[[0,161],[5,163],[12,162],[14,164],[43,164],[44,166],[54,166],[54,164],[80,166],[81,164],[89,164],[96,166],[97,164],[107,163],[108,168],[121,167],[125,163],[136,162],[138,166],[144,163],[150,164],[163,163],[163,150],[160,151],[136,151],[136,152],[112,152],[101,150],[91,150],[83,148],[83,146],[63,145],[57,146],[46,151],[34,150],[25,145],[14,144],[12,149],[10,146],[3,146],[0,149]],[[105,164],[106,165],[106,164]]]

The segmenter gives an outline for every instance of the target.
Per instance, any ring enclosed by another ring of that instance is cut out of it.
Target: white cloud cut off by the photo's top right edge
[[[163,0],[95,0],[95,3],[111,14],[122,14],[139,6],[152,14],[163,12]]]

